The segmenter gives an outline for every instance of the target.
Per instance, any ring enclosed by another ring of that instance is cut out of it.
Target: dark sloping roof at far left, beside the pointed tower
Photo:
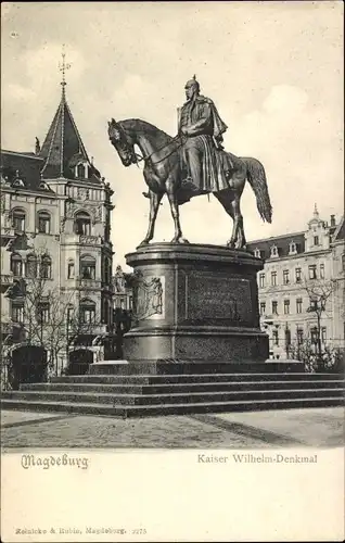
[[[46,184],[42,186],[40,171],[43,164],[43,159],[34,153],[1,150],[1,178],[5,182],[4,187],[53,192]]]

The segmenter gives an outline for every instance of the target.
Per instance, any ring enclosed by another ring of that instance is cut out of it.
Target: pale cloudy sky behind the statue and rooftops
[[[1,147],[34,151],[66,96],[94,165],[114,190],[116,264],[144,238],[149,200],[142,168],[125,168],[107,121],[145,119],[171,136],[193,74],[228,125],[225,147],[265,166],[272,224],[247,184],[248,240],[304,230],[315,203],[343,213],[343,2],[3,2]],[[222,244],[230,217],[214,197],[180,207],[184,237]],[[154,241],[170,241],[166,198]]]

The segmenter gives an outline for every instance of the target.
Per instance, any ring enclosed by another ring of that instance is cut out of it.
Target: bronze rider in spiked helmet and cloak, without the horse
[[[192,79],[186,84],[187,102],[179,108],[178,131],[187,140],[183,156],[188,168],[187,181],[201,193],[228,189],[230,157],[226,159],[221,146],[227,125],[221,121],[214,102],[200,94],[200,84]]]

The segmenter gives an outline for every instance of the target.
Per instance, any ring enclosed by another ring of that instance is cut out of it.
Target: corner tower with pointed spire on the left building
[[[87,368],[111,351],[114,206],[110,184],[89,160],[67,103],[67,67],[63,53],[61,100],[42,146],[36,142],[36,154],[43,160],[42,181],[58,197],[59,281],[78,307],[78,330],[71,325],[67,334],[69,361],[79,372],[80,361]]]

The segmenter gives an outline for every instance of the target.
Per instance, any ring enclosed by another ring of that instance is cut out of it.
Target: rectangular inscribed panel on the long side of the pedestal
[[[247,279],[193,274],[186,277],[186,318],[192,320],[252,320],[251,282]]]

